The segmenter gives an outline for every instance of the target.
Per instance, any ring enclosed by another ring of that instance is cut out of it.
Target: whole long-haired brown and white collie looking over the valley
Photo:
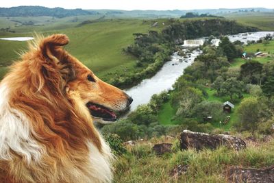
[[[64,34],[36,39],[0,84],[0,182],[112,182],[112,154],[92,121],[132,98],[67,53]]]

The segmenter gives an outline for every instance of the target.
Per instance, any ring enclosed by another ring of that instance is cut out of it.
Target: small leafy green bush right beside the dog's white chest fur
[[[116,134],[105,134],[105,141],[108,142],[112,152],[116,155],[121,155],[127,152],[127,149],[123,146],[123,141],[121,140],[119,135]]]

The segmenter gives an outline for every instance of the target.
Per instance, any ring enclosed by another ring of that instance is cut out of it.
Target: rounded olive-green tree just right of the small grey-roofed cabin
[[[250,130],[254,132],[256,130],[259,114],[260,114],[260,103],[256,97],[249,97],[243,99],[238,106],[238,130]]]

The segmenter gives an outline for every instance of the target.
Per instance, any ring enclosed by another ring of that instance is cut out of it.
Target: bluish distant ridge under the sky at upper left
[[[54,16],[63,18],[66,16],[99,14],[95,11],[82,9],[66,10],[64,8],[46,8],[42,6],[17,6],[12,8],[0,8],[0,16]]]

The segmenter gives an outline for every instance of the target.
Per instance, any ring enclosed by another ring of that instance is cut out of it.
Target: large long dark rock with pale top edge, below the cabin
[[[205,134],[184,130],[180,136],[181,149],[189,147],[201,150],[203,148],[216,149],[220,145],[236,149],[237,151],[247,147],[241,138],[225,134]]]

